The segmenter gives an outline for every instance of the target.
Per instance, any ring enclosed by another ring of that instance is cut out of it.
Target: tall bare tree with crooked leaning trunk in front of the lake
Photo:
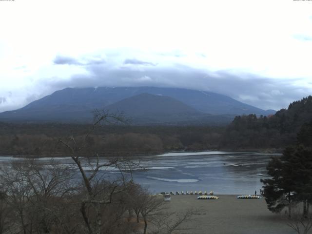
[[[86,231],[89,234],[101,233],[103,225],[103,205],[111,204],[113,201],[113,195],[122,192],[125,188],[122,186],[125,184],[121,169],[123,166],[123,160],[120,158],[114,158],[106,161],[102,160],[104,162],[100,162],[99,154],[97,152],[93,152],[91,156],[87,156],[88,161],[84,163],[82,161],[83,157],[80,156],[80,152],[82,152],[86,145],[88,145],[88,142],[90,141],[90,134],[94,132],[99,125],[124,122],[125,120],[120,114],[115,115],[106,111],[96,110],[94,112],[94,124],[81,142],[78,142],[74,136],[66,139],[56,139],[57,142],[69,150],[70,156],[82,176],[84,198],[81,199],[80,212],[87,229]],[[95,160],[92,160],[92,158],[95,158]],[[85,167],[86,165],[87,169]],[[112,166],[119,168],[122,178],[111,183],[108,188],[101,183],[103,174],[99,175],[98,172],[102,168],[106,169]],[[90,209],[95,214],[94,216],[90,215]]]

